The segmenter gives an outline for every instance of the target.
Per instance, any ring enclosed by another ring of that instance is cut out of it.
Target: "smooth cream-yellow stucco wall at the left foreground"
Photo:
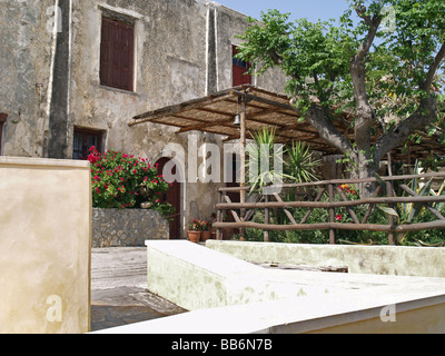
[[[0,334],[90,328],[90,170],[0,157]]]

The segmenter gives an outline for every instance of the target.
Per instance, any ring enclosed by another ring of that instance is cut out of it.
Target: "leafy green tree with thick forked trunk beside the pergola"
[[[257,75],[279,67],[295,110],[349,157],[356,177],[368,178],[388,152],[439,121],[445,2],[349,2],[338,23],[261,12],[261,22],[249,19],[239,57]],[[339,112],[353,112],[354,139],[334,125]]]

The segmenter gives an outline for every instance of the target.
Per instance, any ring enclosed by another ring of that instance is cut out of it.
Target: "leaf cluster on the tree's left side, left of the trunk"
[[[328,108],[344,99],[342,83],[350,81],[350,56],[358,43],[347,36],[347,29],[333,22],[288,22],[288,18],[277,10],[263,12],[263,24],[254,23],[241,36],[247,44],[240,47],[238,56],[253,62],[251,72],[263,73],[278,65],[291,78],[287,91],[298,92],[296,105],[303,112],[314,95]],[[333,78],[340,80],[334,83]]]

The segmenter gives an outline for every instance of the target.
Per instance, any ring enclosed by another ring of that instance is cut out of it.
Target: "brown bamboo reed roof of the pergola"
[[[247,98],[246,128],[256,131],[265,126],[275,128],[280,142],[304,141],[315,151],[325,155],[339,154],[328,142],[322,139],[317,130],[289,103],[289,97],[267,91],[254,86],[244,85],[226,89],[202,98],[168,106],[135,116],[129,126],[144,122],[161,123],[177,127],[177,134],[189,131],[211,132],[225,136],[225,140],[236,140],[240,129],[234,126],[234,119],[240,112],[240,98]],[[354,127],[350,125],[352,115],[345,113],[334,120],[337,129],[353,139]],[[427,157],[432,150],[445,155],[444,149],[434,138],[425,137],[418,145],[411,145],[409,159]],[[407,152],[400,149],[393,152],[393,159],[405,160]]]

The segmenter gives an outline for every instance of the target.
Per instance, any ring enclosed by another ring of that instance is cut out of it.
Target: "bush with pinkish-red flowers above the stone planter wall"
[[[148,202],[164,216],[174,214],[162,196],[171,184],[164,180],[157,167],[147,159],[136,158],[115,150],[100,154],[90,148],[92,205],[97,208],[139,208]]]

